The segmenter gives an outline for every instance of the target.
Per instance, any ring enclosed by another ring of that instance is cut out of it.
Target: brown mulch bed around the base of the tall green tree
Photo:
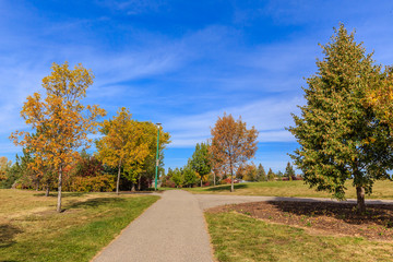
[[[254,202],[225,205],[207,212],[236,211],[266,222],[307,228],[324,235],[345,235],[368,239],[393,240],[393,205],[369,204],[366,214],[355,204],[329,202]]]

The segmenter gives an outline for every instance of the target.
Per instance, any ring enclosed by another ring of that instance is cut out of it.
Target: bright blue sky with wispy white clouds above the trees
[[[284,128],[340,22],[393,63],[392,1],[0,0],[0,155],[14,159],[23,103],[69,61],[95,74],[85,103],[163,123],[166,168],[183,166],[226,111],[260,131],[252,160],[284,170],[297,147]]]

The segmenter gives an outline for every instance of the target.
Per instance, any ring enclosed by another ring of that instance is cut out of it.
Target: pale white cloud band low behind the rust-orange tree
[[[225,111],[231,114],[235,119],[241,116],[248,128],[255,127],[260,132],[259,142],[294,142],[295,139],[285,127],[293,124],[290,114],[298,114],[297,105],[302,104],[303,100],[299,97],[261,99],[200,115],[174,116],[168,118],[163,127],[171,133],[172,143],[169,147],[192,147],[211,136],[211,128],[214,127],[217,117],[222,117]]]

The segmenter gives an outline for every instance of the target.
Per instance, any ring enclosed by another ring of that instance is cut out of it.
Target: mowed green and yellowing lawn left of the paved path
[[[0,190],[0,261],[90,261],[159,196]]]

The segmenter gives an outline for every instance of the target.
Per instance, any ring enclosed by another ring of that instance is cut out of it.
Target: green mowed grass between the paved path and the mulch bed
[[[308,234],[235,212],[205,213],[215,257],[241,261],[393,261],[393,243]]]

